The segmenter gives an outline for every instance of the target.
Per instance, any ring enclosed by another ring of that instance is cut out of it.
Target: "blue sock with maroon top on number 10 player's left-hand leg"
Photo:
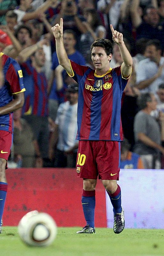
[[[95,190],[86,191],[83,189],[81,202],[86,224],[94,228]]]

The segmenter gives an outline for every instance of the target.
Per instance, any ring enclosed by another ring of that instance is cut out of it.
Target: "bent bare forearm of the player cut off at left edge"
[[[13,112],[14,110],[23,107],[24,92],[19,92],[13,95],[13,100],[3,107],[0,107],[0,115],[5,115]]]

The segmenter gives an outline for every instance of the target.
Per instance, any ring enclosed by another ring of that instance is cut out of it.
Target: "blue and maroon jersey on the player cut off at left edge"
[[[24,92],[22,70],[18,62],[7,55],[0,53],[2,58],[4,85],[0,88],[0,107],[3,107],[13,100],[13,95]],[[0,115],[0,130],[13,131],[13,114]]]

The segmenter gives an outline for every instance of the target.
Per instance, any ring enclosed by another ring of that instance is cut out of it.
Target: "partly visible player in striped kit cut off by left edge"
[[[0,52],[4,84],[0,87],[0,220],[7,193],[5,169],[10,155],[13,134],[13,111],[24,104],[23,76],[16,60]],[[1,233],[1,225],[0,225]]]

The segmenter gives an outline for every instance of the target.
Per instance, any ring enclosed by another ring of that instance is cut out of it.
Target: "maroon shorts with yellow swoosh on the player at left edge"
[[[12,145],[12,133],[0,130],[0,158],[8,160]]]

